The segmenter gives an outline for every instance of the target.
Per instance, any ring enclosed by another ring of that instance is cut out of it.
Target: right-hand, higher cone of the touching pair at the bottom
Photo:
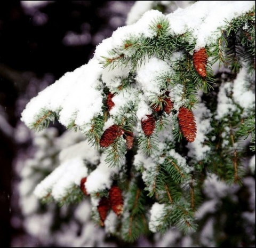
[[[117,186],[112,186],[109,191],[110,207],[116,215],[120,215],[123,212],[123,198],[122,192]]]

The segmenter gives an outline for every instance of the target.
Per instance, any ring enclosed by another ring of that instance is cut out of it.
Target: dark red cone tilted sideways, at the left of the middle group
[[[111,145],[111,143],[114,142],[114,140],[121,136],[124,133],[124,131],[119,127],[118,125],[114,124],[110,127],[108,127],[100,138],[100,146],[101,147],[108,147]]]

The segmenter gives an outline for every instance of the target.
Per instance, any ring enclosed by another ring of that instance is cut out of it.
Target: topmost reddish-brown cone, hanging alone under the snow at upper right
[[[201,77],[206,77],[207,54],[204,47],[193,53],[193,65]]]

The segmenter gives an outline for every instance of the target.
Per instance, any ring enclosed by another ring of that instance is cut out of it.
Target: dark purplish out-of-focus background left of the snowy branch
[[[47,243],[27,233],[19,203],[23,162],[35,153],[32,141],[35,134],[20,121],[22,110],[39,91],[67,71],[87,63],[93,57],[95,46],[111,36],[117,27],[125,25],[133,3],[0,2],[1,246]],[[49,137],[59,136],[63,131],[56,123]]]

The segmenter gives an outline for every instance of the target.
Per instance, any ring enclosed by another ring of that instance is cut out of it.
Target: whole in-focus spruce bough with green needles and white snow
[[[148,10],[130,23],[23,110],[21,120],[30,129],[58,121],[79,130],[92,146],[80,144],[84,157],[60,163],[35,194],[61,205],[79,203],[79,182],[86,177],[97,223],[100,197],[108,196],[112,185],[122,191],[123,213],[110,212],[106,221],[111,234],[126,242],[170,227],[190,234],[198,228],[195,213],[205,197],[204,183],[215,177],[227,187],[241,186],[254,155],[255,4],[198,1],[171,13]],[[202,49],[204,62],[198,62],[195,53]],[[110,110],[108,93],[113,94]],[[168,112],[166,95],[172,102]],[[184,133],[191,123],[180,124],[187,118],[179,116],[181,108],[195,118],[192,142],[186,140],[189,131]],[[145,135],[141,121],[149,115],[154,129]],[[122,134],[113,133],[114,141],[102,148],[102,135],[113,125]],[[133,133],[131,149],[126,132]]]

